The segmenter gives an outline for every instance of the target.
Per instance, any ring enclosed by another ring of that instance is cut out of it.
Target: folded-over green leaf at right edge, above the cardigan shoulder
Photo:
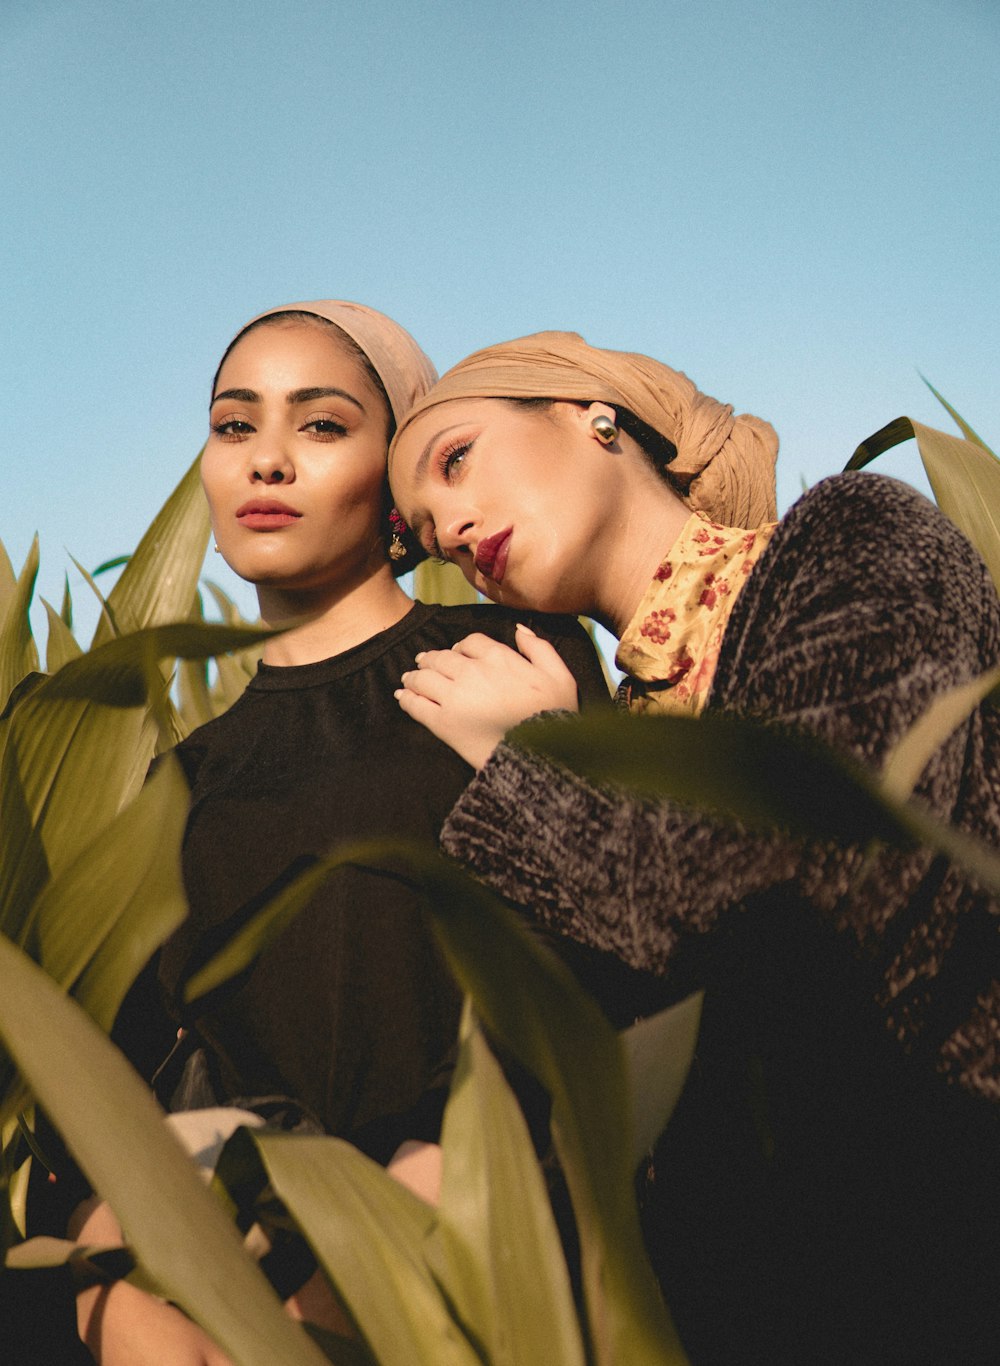
[[[917,438],[939,507],[969,537],[1000,589],[1000,460],[978,437],[963,441],[911,418],[896,418],[862,441],[847,469],[861,470],[910,437]]]

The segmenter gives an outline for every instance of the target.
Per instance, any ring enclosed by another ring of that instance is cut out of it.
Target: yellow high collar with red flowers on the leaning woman
[[[732,607],[776,526],[719,526],[704,512],[687,519],[619,641],[630,710],[701,712]]]

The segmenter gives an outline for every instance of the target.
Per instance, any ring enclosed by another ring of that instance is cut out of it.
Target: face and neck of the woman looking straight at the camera
[[[410,609],[383,540],[387,438],[384,398],[320,324],[255,328],[225,358],[201,478],[216,544],[264,622],[303,623],[268,642],[269,664],[329,658]]]

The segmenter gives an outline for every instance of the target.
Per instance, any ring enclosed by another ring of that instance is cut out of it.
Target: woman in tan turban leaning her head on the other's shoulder
[[[836,475],[775,523],[772,429],[648,357],[548,332],[449,370],[389,477],[497,602],[619,637],[633,712],[749,714],[878,769],[996,667],[1000,605],[921,494]],[[1000,906],[928,851],[764,836],[597,788],[504,740],[575,710],[519,631],[428,652],[403,709],[478,773],[441,843],[536,921],[706,989],[648,1239],[693,1362],[985,1362],[1000,1324]],[[571,720],[567,720],[571,724]],[[917,787],[1000,843],[1000,712]]]

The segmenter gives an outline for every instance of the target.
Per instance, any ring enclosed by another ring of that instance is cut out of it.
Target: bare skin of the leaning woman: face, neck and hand
[[[602,443],[594,418],[613,422],[615,410],[452,399],[403,430],[389,479],[423,546],[495,602],[590,616],[620,635],[690,512],[631,437]],[[577,709],[552,646],[519,627],[518,650],[484,635],[428,650],[399,705],[481,768],[519,721]]]

